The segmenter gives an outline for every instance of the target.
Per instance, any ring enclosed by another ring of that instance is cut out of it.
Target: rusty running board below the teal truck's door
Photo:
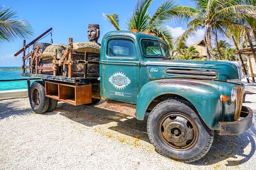
[[[100,109],[105,109],[113,112],[120,112],[128,116],[136,117],[136,105],[106,100],[106,102],[94,106]]]

